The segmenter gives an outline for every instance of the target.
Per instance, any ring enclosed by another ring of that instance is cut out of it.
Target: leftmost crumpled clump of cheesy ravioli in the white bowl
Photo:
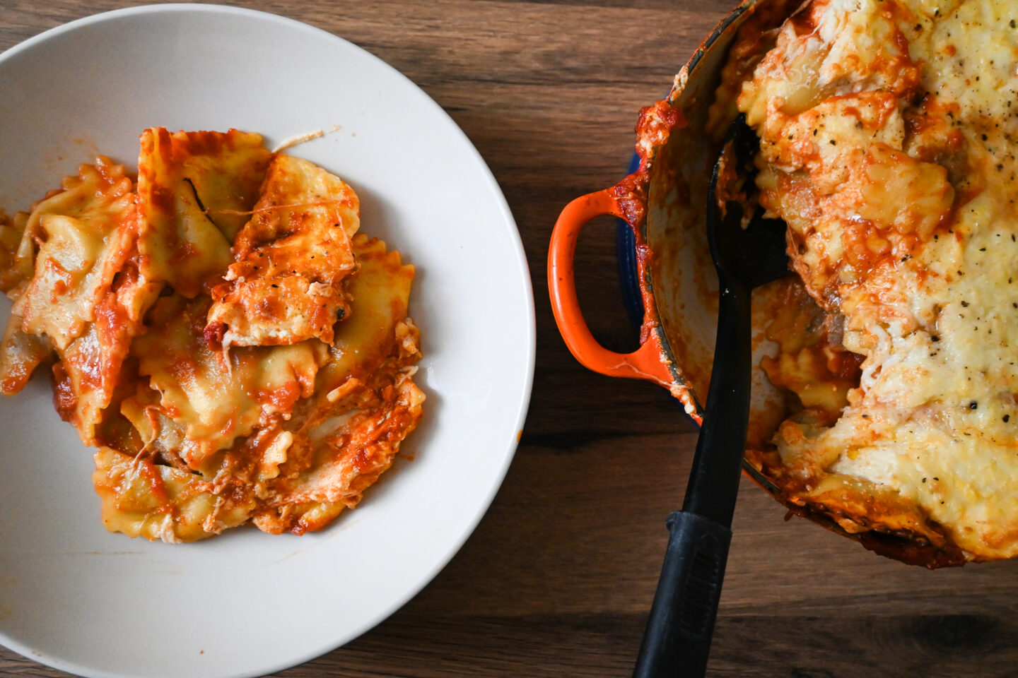
[[[62,190],[34,206],[12,256],[34,258],[35,274],[13,291],[0,344],[0,389],[20,390],[55,350],[57,409],[90,444],[159,289],[137,271],[132,188],[124,168],[108,159],[82,165]]]

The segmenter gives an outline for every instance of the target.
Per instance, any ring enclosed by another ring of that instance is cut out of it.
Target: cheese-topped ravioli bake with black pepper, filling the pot
[[[792,414],[748,458],[790,505],[927,565],[1018,555],[1016,16],[813,0],[736,100],[796,273],[762,364]]]

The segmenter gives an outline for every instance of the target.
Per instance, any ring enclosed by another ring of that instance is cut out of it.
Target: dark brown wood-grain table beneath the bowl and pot
[[[550,311],[548,240],[571,198],[620,179],[641,106],[735,0],[272,0],[238,4],[333,32],[434,98],[488,161],[529,259],[538,358],[505,485],[460,553],[402,610],[288,671],[325,676],[627,676],[696,431],[661,388],[603,377]],[[3,0],[0,50],[125,0]],[[589,228],[576,271],[595,334],[635,346],[615,229]],[[925,571],[800,519],[748,482],[710,673],[1013,676],[1018,563]],[[2,545],[0,545],[2,548]],[[0,649],[0,674],[62,676]]]

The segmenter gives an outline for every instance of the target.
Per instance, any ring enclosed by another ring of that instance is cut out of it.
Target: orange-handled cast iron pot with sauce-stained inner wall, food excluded
[[[766,42],[801,0],[744,0],[708,37],[675,76],[668,97],[642,109],[636,124],[638,169],[616,185],[583,195],[562,210],[552,234],[548,286],[562,337],[585,367],[614,377],[645,379],[664,386],[697,423],[698,394],[711,381],[718,313],[718,281],[706,243],[708,183],[721,138],[737,114],[737,84],[721,85],[722,70],[748,76],[749,55],[730,49],[739,32],[747,40]],[[745,63],[741,60],[745,57]],[[736,78],[738,80],[738,78]],[[726,82],[732,82],[727,78]],[[624,220],[635,239],[635,260],[643,320],[640,346],[619,354],[602,347],[580,313],[573,281],[573,255],[583,227],[593,218],[613,214]],[[882,555],[926,567],[965,562],[954,547],[934,546],[908,534],[870,531],[823,506],[798,505],[783,495],[758,459],[769,438],[788,415],[785,395],[758,365],[775,347],[764,337],[768,295],[753,296],[753,374],[747,459],[743,471],[784,503],[807,517],[860,542]],[[847,529],[846,529],[847,528]]]

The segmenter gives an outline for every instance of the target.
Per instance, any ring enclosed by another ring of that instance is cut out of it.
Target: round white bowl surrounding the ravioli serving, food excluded
[[[109,534],[92,453],[37,375],[0,399],[0,642],[87,676],[250,676],[319,656],[445,565],[515,450],[533,373],[519,235],[476,150],[413,83],[328,33],[261,12],[160,5],[49,30],[0,55],[0,205],[24,209],[144,128],[258,131],[350,183],[362,230],[416,266],[425,419],[330,528],[170,546]],[[9,304],[0,301],[0,321]]]

